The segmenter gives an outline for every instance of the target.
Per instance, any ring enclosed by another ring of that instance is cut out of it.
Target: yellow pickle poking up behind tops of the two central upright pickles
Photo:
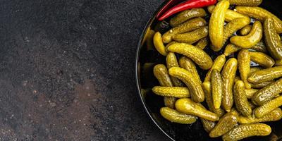
[[[218,71],[221,71],[225,62],[226,62],[226,57],[224,55],[217,56],[216,59],[214,59],[214,64],[212,65],[212,68],[209,69],[209,71],[207,72],[207,75],[206,75],[206,78],[204,78],[204,81],[210,81],[212,70],[216,69]]]

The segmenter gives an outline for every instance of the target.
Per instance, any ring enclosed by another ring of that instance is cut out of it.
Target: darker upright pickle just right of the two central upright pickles
[[[243,116],[250,116],[252,114],[252,108],[247,101],[247,95],[245,93],[244,82],[239,80],[234,85],[234,102],[236,109],[243,114]]]

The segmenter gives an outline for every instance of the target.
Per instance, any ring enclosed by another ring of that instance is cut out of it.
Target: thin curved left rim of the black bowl
[[[171,0],[166,0],[164,1],[159,8],[157,8],[156,11],[154,11],[154,14],[152,14],[151,18],[149,18],[149,20],[147,21],[145,27],[143,28],[142,34],[140,35],[140,39],[137,45],[137,51],[136,51],[136,56],[135,56],[135,81],[136,81],[136,86],[137,86],[137,92],[139,94],[139,97],[141,99],[142,105],[145,108],[145,111],[147,113],[147,115],[149,116],[149,118],[151,118],[151,120],[154,122],[155,125],[157,125],[157,127],[159,128],[159,130],[161,130],[162,133],[164,133],[164,135],[166,135],[166,137],[168,137],[170,140],[175,141],[170,135],[168,135],[164,129],[161,128],[161,126],[157,123],[157,121],[153,118],[152,114],[149,112],[149,109],[147,108],[147,104],[145,104],[145,99],[142,98],[142,94],[141,94],[141,85],[140,85],[140,77],[138,75],[138,63],[139,63],[139,59],[140,59],[140,50],[141,50],[141,46],[142,46],[142,39],[145,37],[145,32],[147,31],[149,25],[151,25],[152,21],[155,20],[157,13],[161,10],[161,8],[163,8],[165,6],[165,4],[168,3],[168,1]]]

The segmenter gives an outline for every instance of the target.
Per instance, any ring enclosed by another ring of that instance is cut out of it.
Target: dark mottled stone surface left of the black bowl
[[[168,140],[134,75],[161,2],[0,1],[0,140]]]

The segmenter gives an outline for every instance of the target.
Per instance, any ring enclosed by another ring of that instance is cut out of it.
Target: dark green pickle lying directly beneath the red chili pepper
[[[176,27],[181,23],[190,20],[191,18],[204,17],[204,16],[207,16],[207,13],[206,11],[204,11],[203,8],[192,8],[190,10],[186,10],[181,13],[178,13],[175,17],[171,18],[169,24],[172,27]]]

